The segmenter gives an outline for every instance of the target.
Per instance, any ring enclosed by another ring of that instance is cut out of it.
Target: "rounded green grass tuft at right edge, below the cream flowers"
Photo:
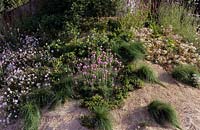
[[[195,66],[192,65],[179,65],[172,71],[172,76],[176,80],[191,85],[193,87],[198,87],[199,72]]]

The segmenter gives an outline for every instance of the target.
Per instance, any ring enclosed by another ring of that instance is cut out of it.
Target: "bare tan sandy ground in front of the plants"
[[[183,130],[200,130],[200,90],[177,83],[158,65],[152,67],[166,88],[146,84],[142,89],[131,92],[124,105],[111,112],[114,130],[173,130],[160,127],[149,117],[146,106],[155,99],[174,106]],[[79,117],[84,114],[88,111],[80,108],[78,102],[69,101],[54,111],[45,112],[40,130],[87,130],[79,122]],[[148,126],[138,128],[142,123]]]

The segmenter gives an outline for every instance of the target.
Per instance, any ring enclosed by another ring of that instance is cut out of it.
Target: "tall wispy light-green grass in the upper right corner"
[[[190,42],[195,42],[197,22],[195,17],[189,15],[192,11],[184,6],[172,4],[162,4],[159,11],[159,22],[168,27],[173,26],[173,30]]]

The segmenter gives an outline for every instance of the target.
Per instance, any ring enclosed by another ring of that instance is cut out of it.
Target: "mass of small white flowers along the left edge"
[[[18,117],[22,96],[34,88],[51,87],[51,70],[45,66],[51,60],[48,51],[37,47],[39,41],[35,37],[26,36],[20,41],[21,48],[4,48],[0,53],[0,123],[4,124]]]

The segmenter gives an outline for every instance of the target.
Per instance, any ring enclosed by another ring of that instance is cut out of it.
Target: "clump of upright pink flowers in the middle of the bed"
[[[90,89],[95,87],[113,87],[119,70],[123,67],[111,50],[92,51],[89,57],[78,59],[78,72],[75,73],[75,84],[87,86]]]

